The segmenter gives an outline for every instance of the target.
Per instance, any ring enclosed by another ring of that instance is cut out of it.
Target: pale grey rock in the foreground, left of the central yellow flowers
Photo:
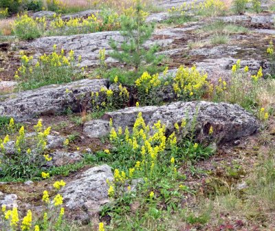
[[[61,190],[65,209],[69,210],[69,217],[88,223],[100,208],[109,202],[107,179],[113,180],[111,167],[107,164],[89,168],[77,175]]]

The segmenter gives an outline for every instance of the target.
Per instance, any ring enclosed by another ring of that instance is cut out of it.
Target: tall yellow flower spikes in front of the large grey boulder
[[[179,126],[179,125],[177,125]],[[186,126],[186,120],[183,119],[180,124],[180,128]],[[107,181],[109,184],[109,197],[114,197],[119,195],[121,190],[123,191],[126,186],[129,186],[129,182],[135,176],[142,176],[144,179],[153,179],[157,170],[162,166],[162,161],[164,156],[169,158],[171,168],[169,173],[177,173],[175,168],[175,155],[173,151],[177,150],[177,137],[175,132],[170,136],[166,137],[166,126],[160,121],[155,122],[151,128],[145,124],[142,118],[142,113],[138,113],[137,119],[133,124],[133,132],[130,135],[129,129],[126,127],[122,135],[122,129],[118,129],[118,132],[112,127],[110,133],[110,140],[115,144],[115,146],[126,146],[127,151],[131,152],[133,157],[139,159],[135,162],[133,168],[129,170],[114,170],[113,182]],[[198,146],[198,144],[196,144]],[[196,146],[195,146],[196,148]],[[169,150],[169,151],[168,151]],[[171,151],[173,150],[173,151]],[[131,187],[127,187],[131,190]]]

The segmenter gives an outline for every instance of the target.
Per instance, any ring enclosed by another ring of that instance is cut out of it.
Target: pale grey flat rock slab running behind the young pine
[[[191,28],[192,29],[192,28]],[[145,47],[157,43],[160,47],[168,47],[174,41],[181,36],[185,30],[188,29],[172,29],[172,30],[158,30],[155,32],[156,36],[161,39],[152,39],[146,42]],[[169,39],[163,38],[163,36],[169,36]],[[35,50],[34,58],[44,53],[51,53],[53,46],[56,45],[58,50],[64,49],[69,52],[74,50],[76,56],[82,56],[82,62],[80,67],[94,66],[99,63],[99,51],[106,50],[106,53],[111,50],[109,42],[113,39],[117,43],[122,43],[123,38],[118,31],[111,32],[96,32],[91,34],[76,34],[70,36],[50,36],[36,39],[31,43],[26,43],[22,48],[23,50]],[[113,58],[107,56],[106,63],[116,63]]]

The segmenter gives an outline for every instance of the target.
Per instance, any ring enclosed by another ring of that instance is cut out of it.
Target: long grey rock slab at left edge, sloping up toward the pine
[[[68,107],[72,111],[79,111],[79,99],[90,98],[91,92],[100,91],[107,84],[107,80],[103,79],[84,79],[0,96],[0,116],[23,121],[37,115],[61,113]]]

